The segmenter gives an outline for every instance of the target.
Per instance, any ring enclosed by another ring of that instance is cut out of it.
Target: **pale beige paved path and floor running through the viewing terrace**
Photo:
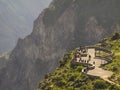
[[[88,49],[88,53],[91,55],[91,61],[89,63],[93,64],[95,61],[95,69],[89,70],[87,74],[93,75],[93,76],[99,76],[100,78],[104,79],[105,81],[115,84],[114,82],[110,81],[108,78],[112,75],[112,72],[104,70],[100,68],[100,65],[102,63],[106,63],[104,59],[95,58],[95,49]]]

